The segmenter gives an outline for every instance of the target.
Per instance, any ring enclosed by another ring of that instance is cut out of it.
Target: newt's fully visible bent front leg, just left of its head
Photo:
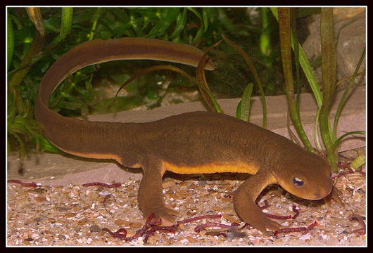
[[[259,169],[257,174],[242,183],[233,195],[234,209],[239,217],[262,233],[265,233],[267,228],[277,231],[282,227],[279,223],[268,219],[255,203],[258,195],[270,183],[277,183],[274,176]]]

